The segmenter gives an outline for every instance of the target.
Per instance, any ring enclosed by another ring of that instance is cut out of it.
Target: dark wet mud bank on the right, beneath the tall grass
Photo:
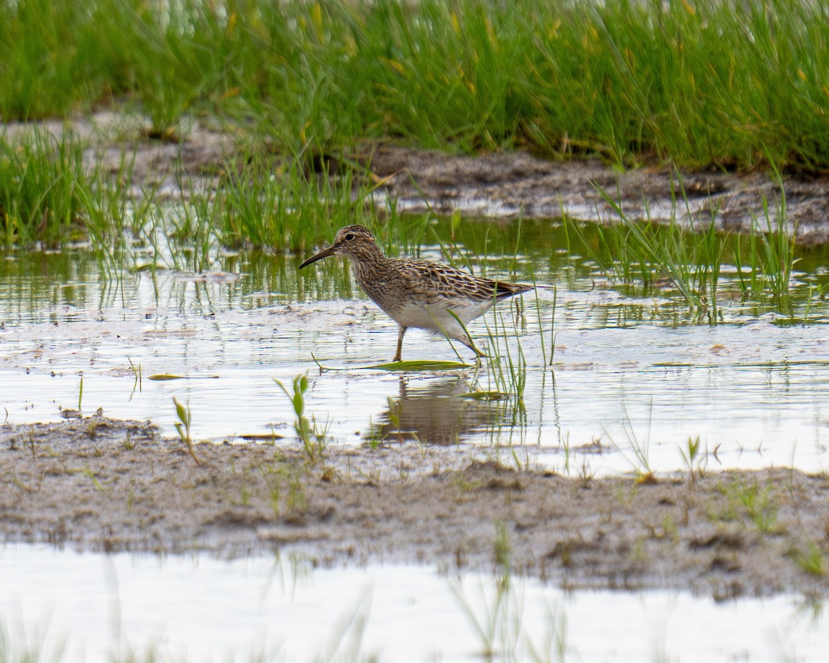
[[[618,211],[628,219],[676,219],[705,228],[713,217],[719,230],[750,232],[775,228],[779,185],[759,172],[683,172],[641,168],[619,172],[598,160],[548,162],[526,153],[452,157],[438,152],[378,148],[371,169],[390,177],[388,190],[399,196],[400,209],[426,211],[424,191],[436,211],[504,218],[558,218],[613,223]],[[414,186],[414,182],[417,186]],[[683,191],[684,189],[684,198]],[[829,178],[784,182],[788,230],[802,244],[829,241]],[[768,202],[770,214],[764,210]]]

